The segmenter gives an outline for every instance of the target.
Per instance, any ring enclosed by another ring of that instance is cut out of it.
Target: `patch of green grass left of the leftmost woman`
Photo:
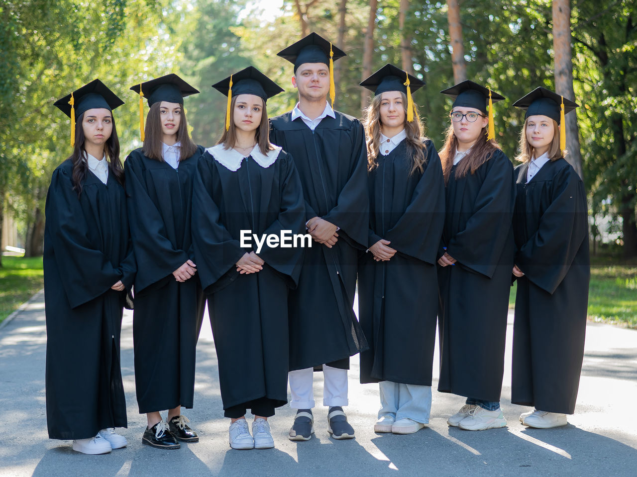
[[[42,257],[3,257],[0,268],[0,322],[42,288]]]

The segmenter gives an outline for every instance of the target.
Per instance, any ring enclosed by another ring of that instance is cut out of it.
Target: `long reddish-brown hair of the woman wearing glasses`
[[[496,150],[500,149],[495,139],[487,141],[487,126],[482,128],[476,142],[473,143],[471,149],[466,156],[458,163],[455,169],[455,177],[458,179],[464,177],[468,172],[474,174],[478,167],[487,162]],[[455,152],[458,150],[458,139],[454,134],[454,125],[450,124],[447,129],[447,139],[445,139],[445,147],[439,153],[440,162],[442,163],[442,171],[445,174],[445,184],[449,181],[451,169],[454,167]]]

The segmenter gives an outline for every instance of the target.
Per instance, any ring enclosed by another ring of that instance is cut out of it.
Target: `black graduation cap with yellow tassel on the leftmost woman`
[[[103,108],[113,111],[122,106],[124,101],[104,85],[99,79],[82,86],[78,90],[54,102],[62,113],[71,118],[71,146],[75,146],[75,115],[85,113],[89,109]]]

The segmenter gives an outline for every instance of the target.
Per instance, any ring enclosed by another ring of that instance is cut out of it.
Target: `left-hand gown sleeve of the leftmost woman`
[[[90,243],[82,206],[66,170],[53,173],[45,215],[55,263],[71,308],[97,298],[122,278],[108,257]]]

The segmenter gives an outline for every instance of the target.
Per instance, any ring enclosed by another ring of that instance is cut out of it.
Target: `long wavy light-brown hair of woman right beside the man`
[[[407,121],[407,95],[400,92],[403,98],[403,110],[405,113],[404,119],[404,132],[405,143],[407,146],[407,155],[412,158],[412,169],[410,170],[410,176],[419,170],[421,173],[424,168],[422,165],[427,162],[427,149],[422,143],[424,135],[422,132],[424,127],[422,121],[420,121],[420,114],[418,113],[418,107],[414,104],[415,111],[413,114],[413,121],[410,123]],[[369,171],[378,167],[378,154],[380,153],[380,129],[382,122],[380,121],[380,102],[382,94],[376,95],[371,104],[365,111],[365,118],[363,124],[365,126],[365,135],[367,137],[367,169]]]

